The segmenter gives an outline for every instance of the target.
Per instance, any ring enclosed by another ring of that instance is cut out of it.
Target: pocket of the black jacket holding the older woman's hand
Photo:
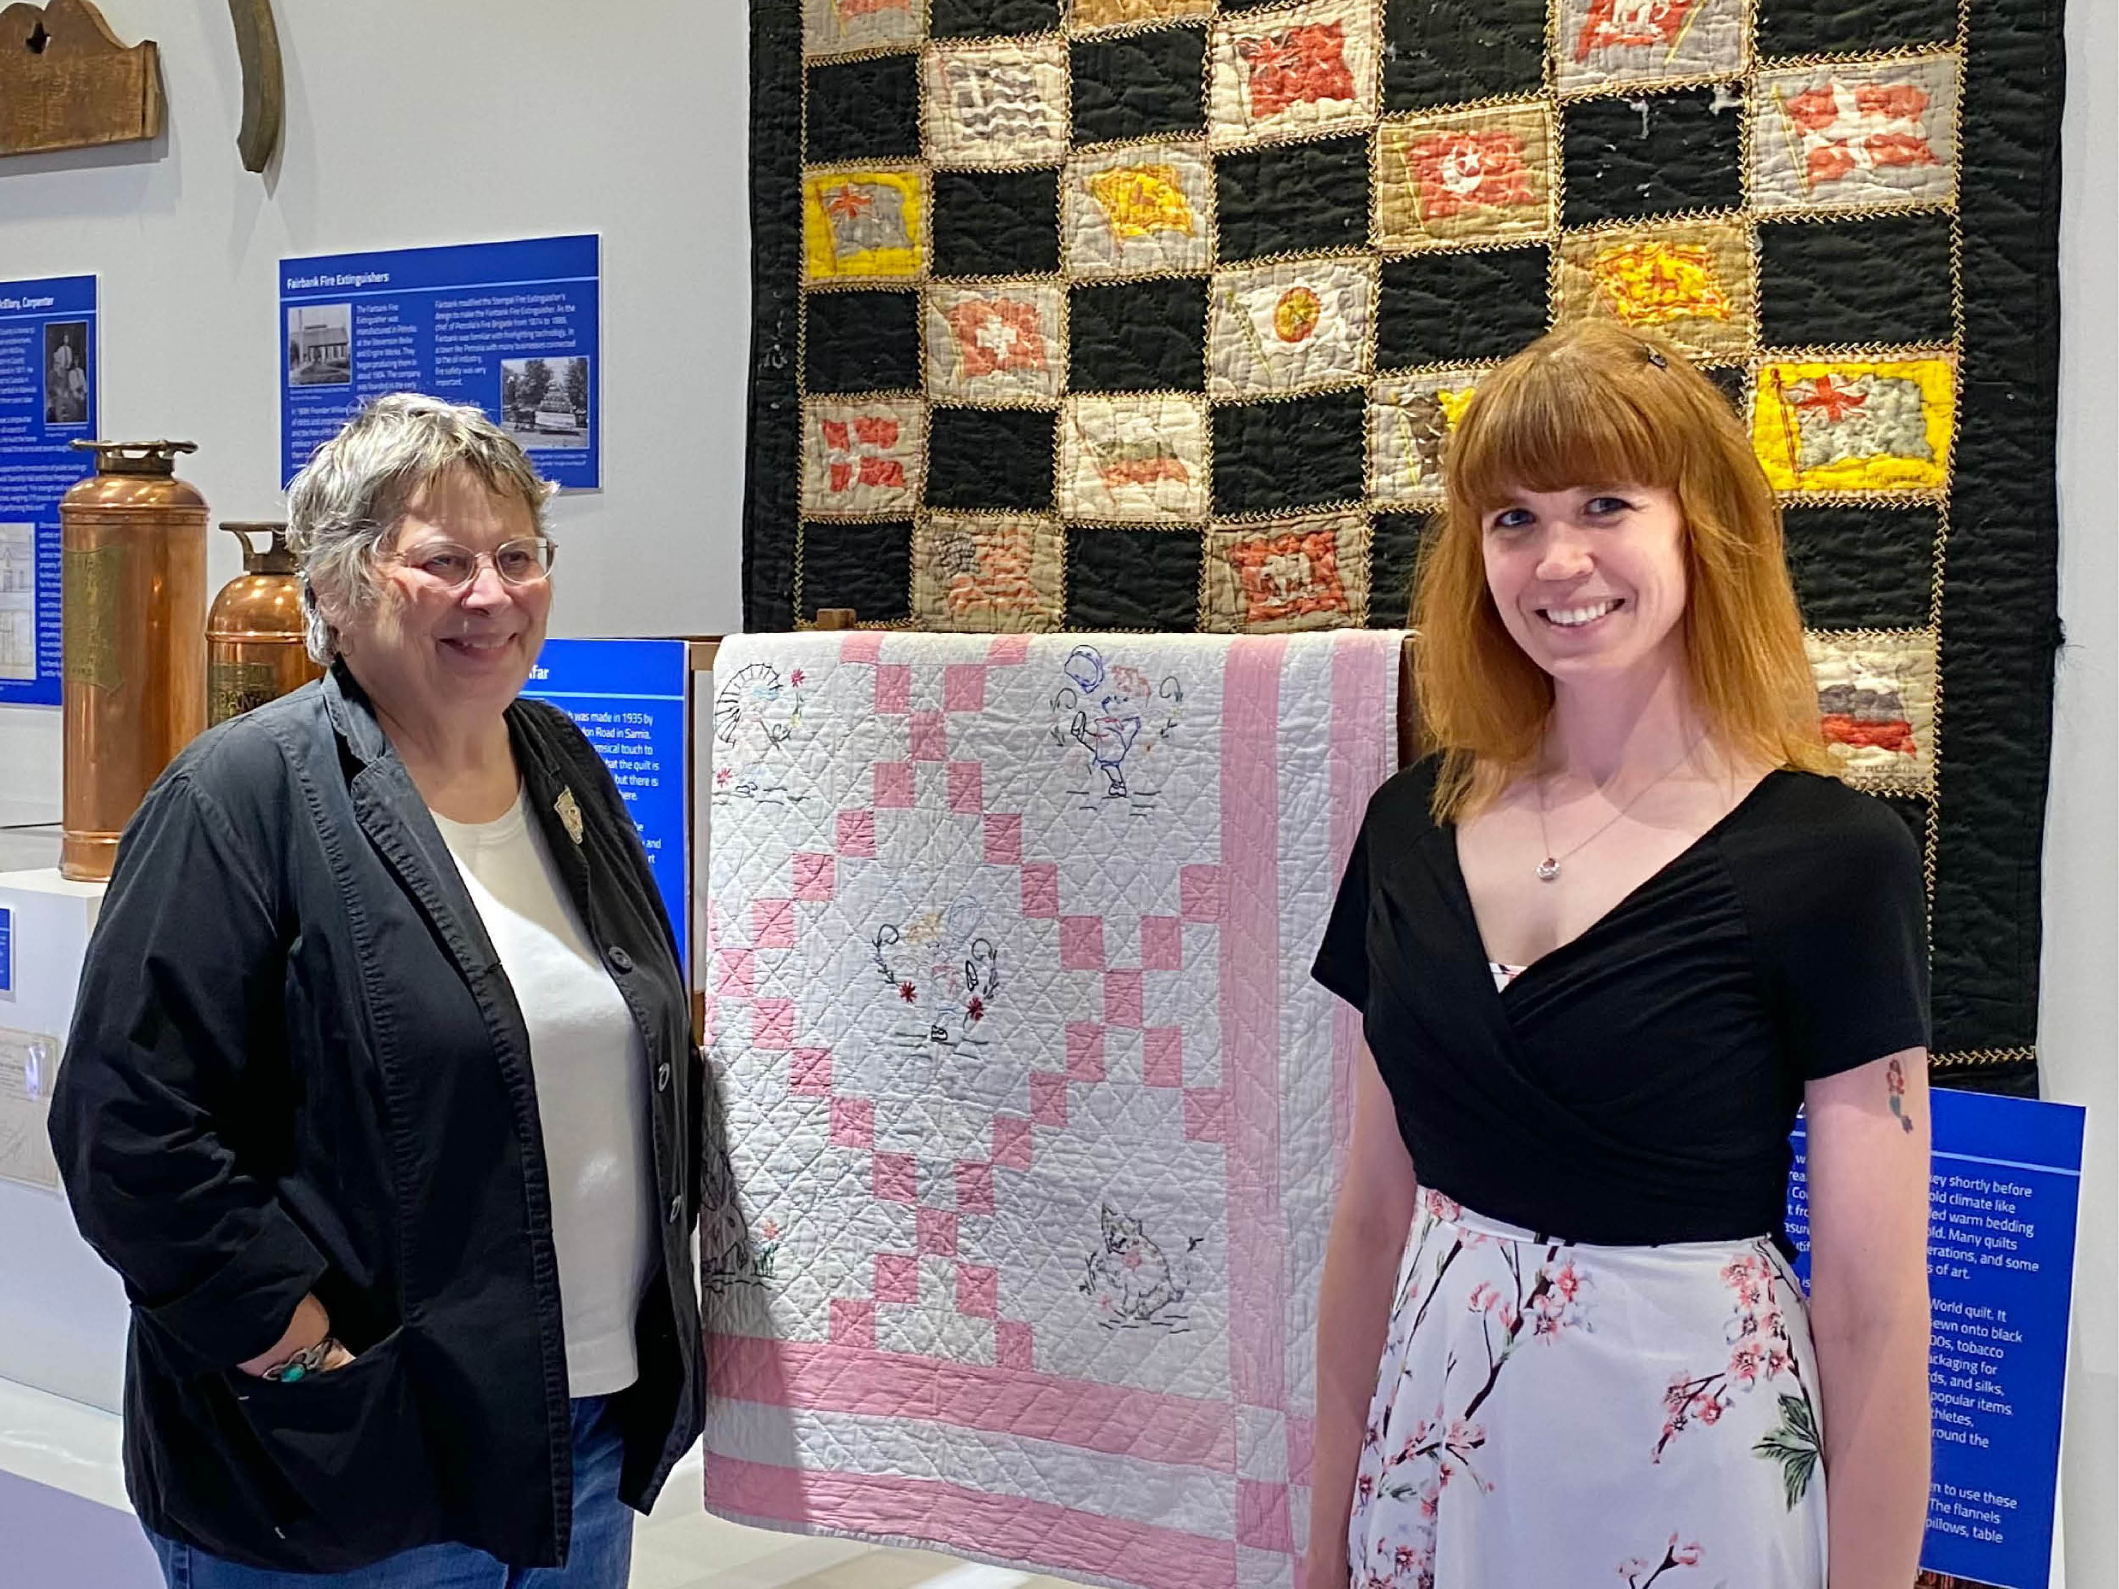
[[[328,1373],[237,1375],[244,1417],[309,1513],[288,1519],[288,1536],[316,1532],[369,1559],[432,1538],[441,1502],[403,1354],[396,1331]]]

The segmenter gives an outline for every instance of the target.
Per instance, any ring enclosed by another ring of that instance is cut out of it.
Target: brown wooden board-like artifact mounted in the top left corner
[[[161,55],[127,49],[89,0],[0,11],[0,155],[161,133]]]

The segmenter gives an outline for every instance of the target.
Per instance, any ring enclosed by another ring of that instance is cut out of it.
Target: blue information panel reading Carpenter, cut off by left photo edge
[[[59,498],[95,472],[95,278],[0,282],[0,706],[57,706]]]

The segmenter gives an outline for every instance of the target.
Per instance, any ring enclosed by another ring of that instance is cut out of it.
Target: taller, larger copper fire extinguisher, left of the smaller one
[[[59,500],[59,871],[102,881],[148,784],[206,727],[206,498],[176,479],[195,443],[74,445],[95,475]]]

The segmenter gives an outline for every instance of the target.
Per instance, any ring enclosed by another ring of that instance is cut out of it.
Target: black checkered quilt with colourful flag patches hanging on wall
[[[2060,0],[752,0],[744,623],[1396,625],[1454,415],[1653,326],[1782,494],[1937,1078],[2034,1085]]]

